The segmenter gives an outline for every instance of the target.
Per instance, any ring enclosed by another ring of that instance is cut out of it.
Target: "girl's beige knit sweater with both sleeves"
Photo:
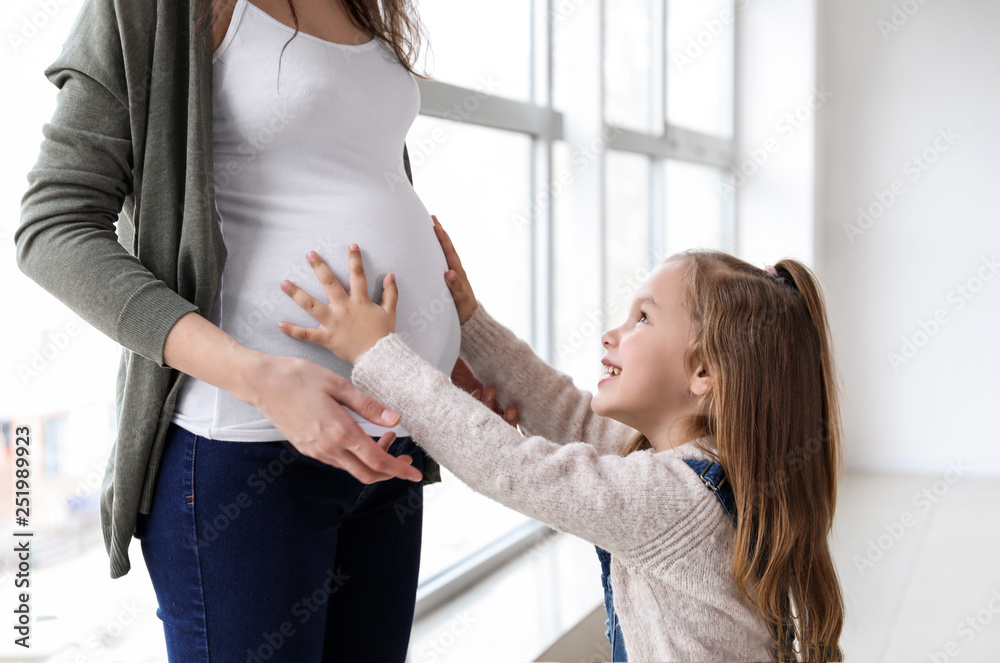
[[[767,626],[732,578],[732,523],[683,461],[705,454],[688,442],[618,456],[635,430],[594,414],[590,392],[482,304],[461,329],[461,357],[530,437],[395,333],[357,358],[354,384],[474,490],[611,553],[630,661],[767,661]]]

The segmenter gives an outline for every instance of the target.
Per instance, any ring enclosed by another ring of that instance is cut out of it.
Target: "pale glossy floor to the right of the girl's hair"
[[[848,660],[1000,661],[1000,478],[852,474],[832,547]]]

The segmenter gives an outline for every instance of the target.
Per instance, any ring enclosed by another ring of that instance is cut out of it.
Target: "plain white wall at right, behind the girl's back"
[[[996,0],[819,4],[816,263],[850,466],[1000,474],[998,31]]]

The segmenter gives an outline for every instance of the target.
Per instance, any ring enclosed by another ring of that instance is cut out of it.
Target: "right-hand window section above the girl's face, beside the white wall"
[[[557,162],[553,363],[591,392],[603,331],[648,269],[687,248],[733,249],[732,0],[576,6],[553,24]]]

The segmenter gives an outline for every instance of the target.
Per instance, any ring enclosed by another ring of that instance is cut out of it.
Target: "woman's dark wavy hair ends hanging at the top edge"
[[[381,38],[396,54],[399,63],[414,76],[431,80],[429,76],[417,73],[413,65],[420,52],[422,26],[412,0],[341,0],[347,14],[355,26]],[[295,32],[288,41],[299,33],[299,17],[295,13],[292,0],[287,0],[292,10]],[[195,0],[197,12],[196,29],[202,38],[212,44],[215,26],[223,13],[229,13],[236,0]],[[211,26],[212,29],[207,30]],[[285,43],[288,46],[288,43]],[[211,50],[211,47],[209,47]],[[284,53],[285,49],[281,49]],[[280,62],[279,62],[279,67]]]

